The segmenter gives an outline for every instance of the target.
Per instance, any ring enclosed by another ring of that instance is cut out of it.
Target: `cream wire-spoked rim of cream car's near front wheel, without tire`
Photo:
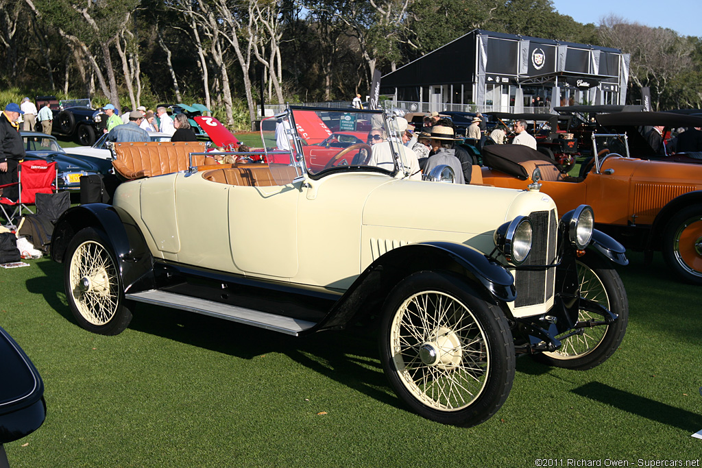
[[[490,360],[484,330],[449,294],[423,291],[402,302],[392,321],[390,349],[402,385],[430,408],[461,410],[486,385]]]

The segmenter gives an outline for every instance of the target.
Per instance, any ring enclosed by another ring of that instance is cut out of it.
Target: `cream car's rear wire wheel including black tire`
[[[128,326],[131,312],[124,305],[117,264],[102,236],[83,229],[66,254],[66,297],[79,325],[93,333],[117,335]]]

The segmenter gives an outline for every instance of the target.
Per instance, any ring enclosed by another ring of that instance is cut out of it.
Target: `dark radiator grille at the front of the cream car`
[[[534,225],[534,243],[529,258],[524,266],[551,265],[556,256],[556,234],[558,222],[555,210],[534,211],[529,214]],[[515,287],[517,288],[516,307],[543,304],[553,296],[556,269],[546,268],[534,271],[517,270]]]

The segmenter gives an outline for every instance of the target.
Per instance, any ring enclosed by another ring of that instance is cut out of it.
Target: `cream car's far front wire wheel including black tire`
[[[608,266],[608,265],[607,265]],[[590,253],[576,261],[581,297],[597,302],[618,315],[611,325],[600,325],[580,330],[567,330],[557,336],[561,347],[555,352],[537,354],[538,361],[550,366],[587,370],[609,359],[623,340],[629,321],[629,304],[624,285],[618,273],[607,268],[604,261]],[[599,314],[581,309],[578,321],[602,321]],[[568,336],[569,335],[569,336]]]

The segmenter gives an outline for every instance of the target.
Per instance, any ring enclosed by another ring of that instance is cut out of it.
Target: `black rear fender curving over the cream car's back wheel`
[[[51,237],[51,258],[63,262],[66,249],[81,229],[95,229],[114,253],[124,290],[153,286],[153,258],[131,215],[104,203],[89,203],[67,210],[56,222]]]

